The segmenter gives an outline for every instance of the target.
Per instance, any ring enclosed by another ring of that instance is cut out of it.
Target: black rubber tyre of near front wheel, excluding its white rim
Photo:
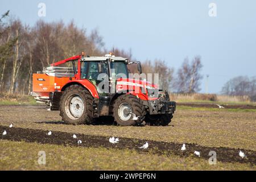
[[[118,110],[124,104],[129,105],[131,109],[131,113],[135,114],[137,117],[139,116],[137,120],[132,119],[133,118],[132,114],[130,115],[126,114],[130,116],[130,118],[127,116],[127,118],[129,119],[126,121],[121,119],[121,117],[118,114]],[[114,116],[115,122],[117,122],[117,125],[119,126],[141,125],[141,123],[144,121],[145,114],[146,114],[146,111],[144,109],[142,101],[131,94],[125,94],[125,95],[119,96],[117,97],[117,99],[114,100],[113,116]]]

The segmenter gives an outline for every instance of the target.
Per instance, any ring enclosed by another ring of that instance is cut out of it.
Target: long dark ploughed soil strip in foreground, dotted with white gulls
[[[77,139],[73,139],[71,133],[52,131],[52,135],[48,136],[48,131],[34,130],[34,129],[22,129],[17,127],[5,127],[0,126],[0,131],[7,131],[7,135],[1,134],[0,139],[13,140],[13,141],[24,141],[24,142],[37,142],[42,144],[57,144],[64,146],[80,146],[80,147],[106,147],[106,148],[117,148],[117,149],[130,149],[139,152],[150,152],[151,154],[157,155],[170,155],[175,154],[179,156],[193,156],[194,151],[200,151],[200,158],[209,159],[208,155],[210,151],[217,153],[217,161],[220,162],[239,162],[239,163],[250,163],[256,164],[256,152],[251,150],[242,150],[245,152],[247,158],[242,159],[238,153],[239,149],[225,148],[225,147],[205,147],[197,144],[186,144],[186,150],[180,151],[181,144],[179,143],[167,143],[167,142],[156,142],[151,140],[139,140],[130,138],[119,138],[119,143],[112,144],[109,142],[108,137],[93,136],[76,134]],[[112,137],[112,136],[109,136]],[[80,145],[77,144],[77,140],[82,140]],[[149,147],[144,150],[139,147],[144,143],[148,142]],[[197,156],[193,156],[197,158]]]

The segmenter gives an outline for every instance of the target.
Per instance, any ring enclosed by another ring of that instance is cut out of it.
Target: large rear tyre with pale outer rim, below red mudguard
[[[81,100],[79,104],[82,103],[82,106],[84,106],[84,110],[79,113],[81,114],[79,117],[72,115],[70,107],[72,101],[69,100],[74,97],[79,98]],[[91,124],[93,122],[93,97],[89,91],[80,85],[71,85],[66,88],[60,98],[60,116],[69,125]]]

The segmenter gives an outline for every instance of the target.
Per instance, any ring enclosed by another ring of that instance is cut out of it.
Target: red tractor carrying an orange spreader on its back
[[[63,65],[69,67],[63,67]],[[117,125],[167,126],[176,102],[168,92],[146,80],[129,77],[131,62],[112,54],[105,56],[77,55],[58,61],[33,74],[32,96],[60,110],[67,124],[91,124],[101,116],[111,116]],[[119,75],[119,76],[118,76]],[[121,76],[120,76],[121,75]]]

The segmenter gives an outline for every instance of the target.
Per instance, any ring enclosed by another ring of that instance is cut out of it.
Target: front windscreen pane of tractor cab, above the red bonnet
[[[128,78],[128,70],[127,65],[123,61],[115,61],[110,63],[110,69],[112,72],[112,75],[116,76],[116,78]]]

